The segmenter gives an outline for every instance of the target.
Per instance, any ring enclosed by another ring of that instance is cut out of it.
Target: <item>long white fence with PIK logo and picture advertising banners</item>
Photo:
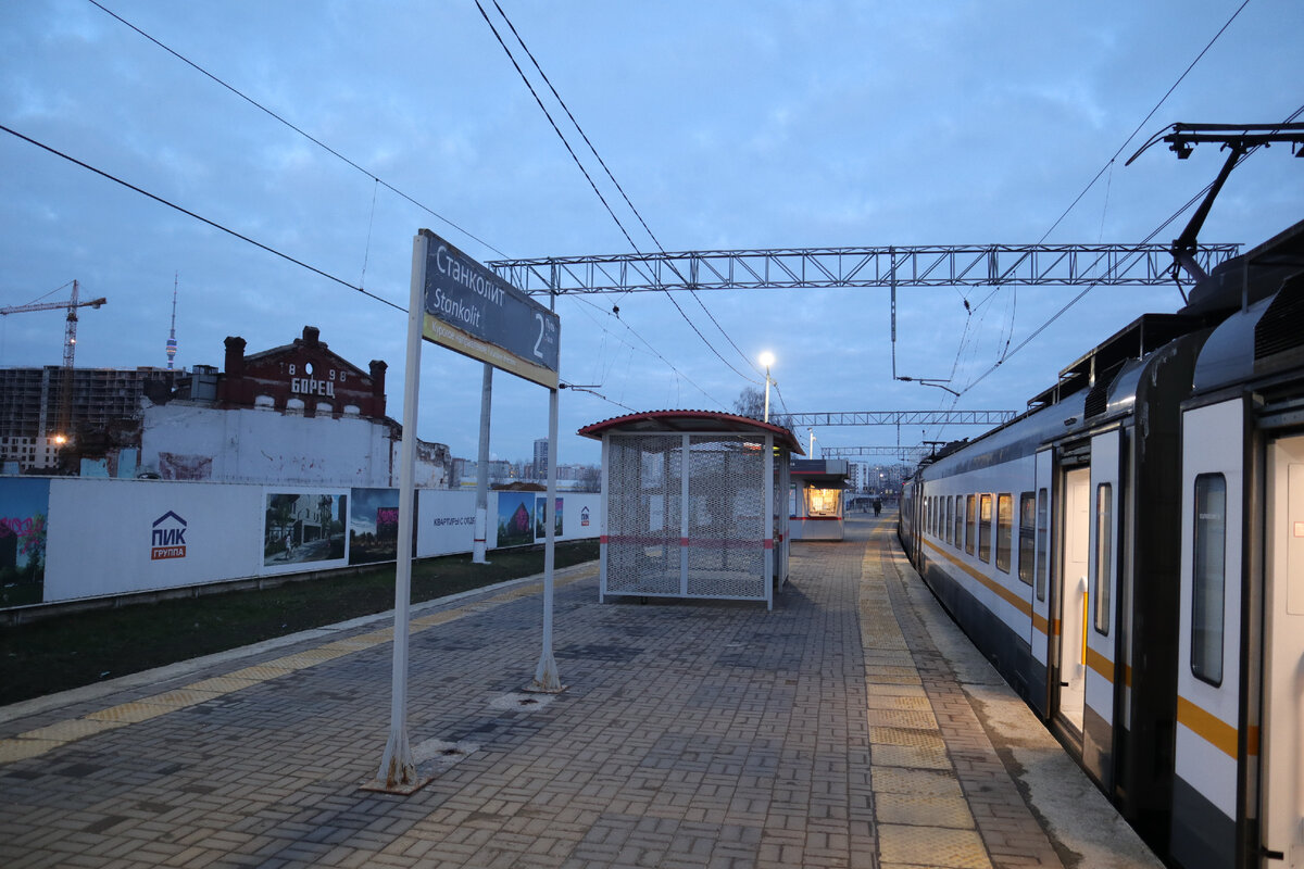
[[[542,537],[536,499],[489,492],[489,548]],[[562,500],[559,538],[596,537],[601,498]],[[396,503],[390,489],[4,477],[0,608],[331,569],[351,556],[393,563]],[[420,490],[417,507],[419,558],[472,550],[475,492]]]

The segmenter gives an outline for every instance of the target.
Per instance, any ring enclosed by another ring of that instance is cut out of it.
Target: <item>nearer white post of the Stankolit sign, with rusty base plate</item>
[[[394,568],[394,668],[390,739],[385,745],[377,790],[408,793],[421,786],[407,734],[408,608],[412,601],[412,513],[416,509],[416,405],[421,375],[421,327],[425,321],[426,240],[412,240],[412,292],[408,300],[407,370],[403,374],[403,447],[399,469],[399,545]]]

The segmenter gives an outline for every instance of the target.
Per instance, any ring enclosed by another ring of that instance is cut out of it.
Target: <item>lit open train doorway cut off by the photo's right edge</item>
[[[1269,444],[1266,477],[1260,835],[1262,853],[1297,869],[1304,866],[1304,436]]]

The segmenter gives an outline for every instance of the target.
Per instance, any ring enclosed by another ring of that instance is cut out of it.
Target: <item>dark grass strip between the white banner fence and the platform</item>
[[[597,541],[558,543],[557,567],[597,558]],[[412,602],[544,569],[542,547],[496,550],[489,564],[447,555],[412,564]],[[55,615],[0,627],[0,706],[394,608],[394,565]]]

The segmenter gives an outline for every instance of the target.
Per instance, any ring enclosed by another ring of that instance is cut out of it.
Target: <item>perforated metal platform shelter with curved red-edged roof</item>
[[[782,426],[709,410],[649,410],[584,426],[602,442],[600,599],[775,603],[788,580]]]

